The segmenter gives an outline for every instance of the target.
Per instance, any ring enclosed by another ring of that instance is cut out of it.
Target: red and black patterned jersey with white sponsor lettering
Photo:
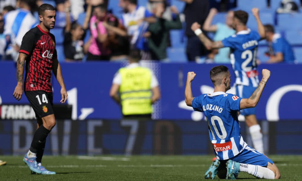
[[[24,90],[52,92],[52,63],[57,59],[54,35],[38,25],[24,35],[19,52],[28,55]]]

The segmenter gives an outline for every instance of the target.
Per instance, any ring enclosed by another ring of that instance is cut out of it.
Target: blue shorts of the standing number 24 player
[[[251,86],[245,86],[245,85],[236,85],[236,95],[242,98],[249,98],[253,94],[253,92],[256,90],[257,87],[251,87]],[[243,116],[256,114],[256,108],[248,108],[240,110],[240,114]]]

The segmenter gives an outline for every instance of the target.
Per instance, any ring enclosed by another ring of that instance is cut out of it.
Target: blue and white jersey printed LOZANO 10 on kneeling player
[[[240,134],[237,112],[240,100],[234,94],[214,92],[195,97],[192,107],[203,112],[209,125],[209,135],[218,160],[230,159],[247,146]]]

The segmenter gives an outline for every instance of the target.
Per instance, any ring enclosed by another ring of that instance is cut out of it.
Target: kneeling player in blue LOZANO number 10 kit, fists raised
[[[249,147],[243,140],[238,121],[239,110],[257,105],[270,74],[269,70],[263,69],[263,77],[258,87],[248,99],[244,99],[226,94],[231,84],[231,75],[226,66],[219,65],[211,69],[210,78],[214,84],[214,92],[198,97],[193,97],[191,90],[191,81],[196,74],[188,72],[185,102],[206,116],[210,139],[217,157],[206,171],[206,179],[214,179],[217,174],[219,178],[236,179],[238,172],[246,172],[257,178],[280,178],[280,172],[274,162]]]

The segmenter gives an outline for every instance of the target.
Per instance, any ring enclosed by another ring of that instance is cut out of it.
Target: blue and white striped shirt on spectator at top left
[[[16,9],[10,11],[4,16],[4,34],[11,36],[11,41],[21,46],[22,38],[27,31],[37,25],[36,18],[30,11],[25,9]]]

